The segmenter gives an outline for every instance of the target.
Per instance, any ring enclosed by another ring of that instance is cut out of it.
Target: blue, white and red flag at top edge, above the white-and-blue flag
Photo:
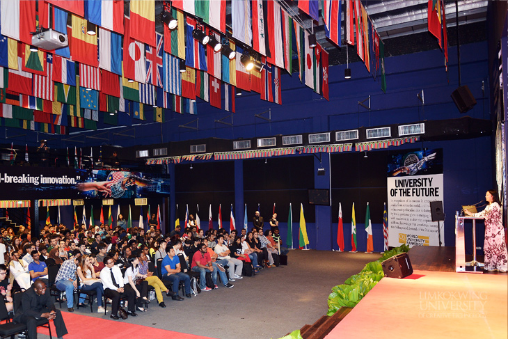
[[[109,29],[109,31],[123,33],[123,0],[85,1],[84,5],[85,19],[89,22]]]

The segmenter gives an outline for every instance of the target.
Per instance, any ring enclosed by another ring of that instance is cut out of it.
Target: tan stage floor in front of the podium
[[[508,276],[414,271],[383,278],[325,339],[508,338]]]

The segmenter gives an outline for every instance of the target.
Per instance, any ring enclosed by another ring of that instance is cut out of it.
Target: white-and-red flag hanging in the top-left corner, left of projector
[[[0,15],[3,36],[31,45],[31,32],[35,32],[35,1],[1,1]]]

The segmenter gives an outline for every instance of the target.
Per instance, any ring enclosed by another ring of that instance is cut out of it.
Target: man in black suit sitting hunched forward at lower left
[[[21,301],[21,311],[16,313],[14,320],[26,324],[30,339],[37,339],[37,322],[42,318],[54,321],[58,339],[68,333],[62,313],[56,310],[44,281],[36,280],[28,290],[23,292]]]

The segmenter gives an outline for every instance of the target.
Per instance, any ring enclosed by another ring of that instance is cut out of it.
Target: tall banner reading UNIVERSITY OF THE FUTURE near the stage
[[[443,150],[391,155],[388,161],[389,246],[438,246],[431,201],[443,201]],[[443,241],[443,223],[440,223]]]

